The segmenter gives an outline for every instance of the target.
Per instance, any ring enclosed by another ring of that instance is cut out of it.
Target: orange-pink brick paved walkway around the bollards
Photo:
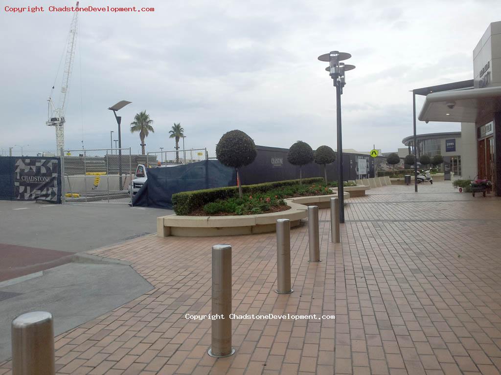
[[[294,293],[273,292],[275,234],[147,236],[93,253],[131,261],[151,292],[57,337],[67,374],[495,374],[501,369],[501,199],[450,183],[351,198],[342,244],[321,210],[320,263],[291,230]],[[233,245],[235,313],[336,314],[234,320],[236,353],[206,354],[210,246]],[[0,364],[0,374],[10,373]]]

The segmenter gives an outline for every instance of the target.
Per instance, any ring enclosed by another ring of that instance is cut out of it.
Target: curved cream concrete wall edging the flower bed
[[[350,193],[345,191],[344,198]],[[307,206],[318,205],[327,208],[330,198],[337,196],[337,192],[329,195],[300,196],[285,199],[291,207],[286,211],[262,213],[258,215],[232,216],[178,216],[176,214],[157,218],[157,235],[166,237],[175,235],[180,237],[212,237],[220,235],[240,235],[274,232],[279,218],[291,220],[291,227],[300,225],[300,220],[307,217]]]

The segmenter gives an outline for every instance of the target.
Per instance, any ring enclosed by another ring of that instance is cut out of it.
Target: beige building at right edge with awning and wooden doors
[[[501,195],[501,21],[490,23],[473,49],[471,87],[464,82],[417,89],[429,89],[419,120],[460,122],[461,149],[469,152],[461,154],[461,174],[491,180]]]

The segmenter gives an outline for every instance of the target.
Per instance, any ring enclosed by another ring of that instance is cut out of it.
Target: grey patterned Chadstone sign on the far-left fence
[[[58,158],[19,157],[14,170],[14,199],[60,202]]]

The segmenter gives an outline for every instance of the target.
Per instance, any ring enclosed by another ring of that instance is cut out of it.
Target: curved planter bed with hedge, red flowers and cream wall
[[[242,198],[236,186],[177,193],[172,196],[176,214],[158,217],[157,235],[266,233],[275,231],[279,218],[289,219],[291,227],[295,227],[307,217],[308,205],[329,207],[330,198],[337,197],[334,185],[337,183],[326,185],[322,178],[305,178],[302,185],[299,180],[245,185]],[[353,185],[358,186],[347,183]],[[343,195],[345,199],[350,197],[347,191]],[[211,213],[207,214],[207,210]]]

